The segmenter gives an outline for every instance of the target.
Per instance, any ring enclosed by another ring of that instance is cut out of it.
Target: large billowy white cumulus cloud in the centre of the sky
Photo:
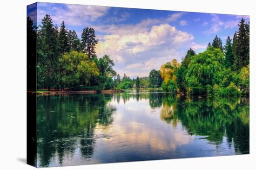
[[[126,28],[123,28],[126,29]],[[96,45],[97,56],[110,55],[119,68],[129,76],[148,76],[152,69],[159,69],[163,63],[181,58],[179,48],[189,45],[194,37],[168,24],[154,25],[149,31],[121,32],[104,36]]]

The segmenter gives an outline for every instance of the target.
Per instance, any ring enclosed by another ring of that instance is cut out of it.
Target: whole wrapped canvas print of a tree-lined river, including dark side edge
[[[239,154],[249,154],[249,16],[27,6],[28,164]]]

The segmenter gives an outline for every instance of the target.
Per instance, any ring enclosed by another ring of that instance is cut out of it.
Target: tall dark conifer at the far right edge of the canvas
[[[235,51],[235,66],[237,70],[249,64],[249,26],[246,25],[242,18],[239,22]]]

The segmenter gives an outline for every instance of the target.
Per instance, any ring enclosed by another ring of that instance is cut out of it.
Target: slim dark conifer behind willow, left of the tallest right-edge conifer
[[[231,68],[234,69],[234,60],[235,56],[233,53],[233,44],[231,42],[230,37],[227,38],[226,44],[224,46],[224,51],[225,51],[225,59],[224,59],[224,65],[226,68]]]

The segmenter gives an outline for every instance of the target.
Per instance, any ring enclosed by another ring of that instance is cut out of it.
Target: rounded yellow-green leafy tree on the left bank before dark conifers
[[[64,53],[59,60],[63,72],[61,76],[61,90],[64,85],[77,88],[80,84],[89,83],[91,76],[99,76],[100,70],[94,61],[87,55],[78,51]]]

